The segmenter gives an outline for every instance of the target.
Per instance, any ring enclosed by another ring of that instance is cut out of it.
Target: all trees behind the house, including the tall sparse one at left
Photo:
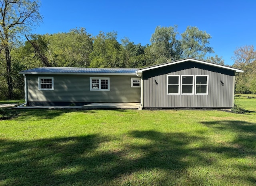
[[[0,99],[24,98],[24,78],[18,72],[37,67],[142,68],[187,57],[224,64],[218,55],[206,57],[214,53],[211,36],[192,26],[183,33],[177,25],[158,26],[150,44],[144,46],[128,38],[118,41],[116,31],[94,36],[83,27],[31,34],[32,26],[42,21],[39,7],[38,0],[0,0]],[[255,77],[249,78],[255,65],[255,51],[250,47],[252,59],[239,61],[242,52],[234,53],[233,59],[235,67],[246,69],[236,80],[236,90],[243,93],[256,92]]]

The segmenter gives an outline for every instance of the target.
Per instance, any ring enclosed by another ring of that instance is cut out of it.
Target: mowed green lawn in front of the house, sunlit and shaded
[[[18,110],[0,121],[0,185],[255,185],[249,108]]]

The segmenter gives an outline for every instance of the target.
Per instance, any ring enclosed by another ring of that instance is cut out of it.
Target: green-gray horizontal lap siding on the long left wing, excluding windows
[[[28,102],[140,102],[140,88],[131,87],[134,76],[48,76],[54,77],[53,91],[38,90],[38,75],[27,75]],[[90,91],[90,77],[110,78],[110,91]]]

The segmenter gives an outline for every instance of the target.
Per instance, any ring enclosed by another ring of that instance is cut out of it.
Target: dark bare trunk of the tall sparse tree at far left
[[[6,75],[7,75],[7,84],[8,84],[8,99],[12,99],[12,74],[11,74],[11,59],[10,51],[8,46],[5,47],[5,59],[6,59]]]

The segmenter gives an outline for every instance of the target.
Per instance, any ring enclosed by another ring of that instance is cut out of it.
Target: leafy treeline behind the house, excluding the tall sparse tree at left
[[[178,33],[177,26],[156,27],[151,43],[142,46],[128,38],[120,41],[117,32],[100,32],[93,36],[85,28],[67,33],[26,35],[25,40],[12,43],[10,50],[12,97],[24,98],[24,77],[21,70],[37,67],[142,68],[186,57],[224,64],[209,47],[211,38],[205,31],[188,26]],[[206,57],[208,55],[208,57]],[[244,70],[236,77],[237,93],[256,92],[256,52],[254,47],[237,48],[232,57],[234,67]],[[0,53],[0,99],[10,98],[6,79],[6,56]]]

